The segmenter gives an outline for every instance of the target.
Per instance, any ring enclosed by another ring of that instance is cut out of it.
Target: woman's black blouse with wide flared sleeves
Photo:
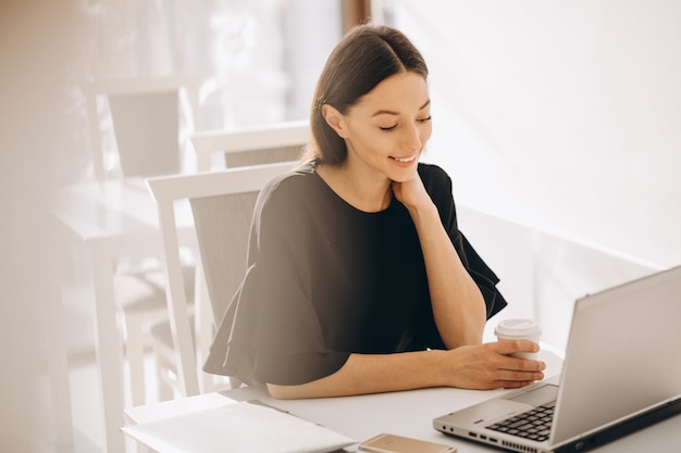
[[[419,164],[419,174],[490,318],[506,301],[457,227],[451,180],[435,165]],[[386,210],[366,213],[339,198],[312,164],[277,177],[258,198],[248,265],[208,373],[297,385],[335,373],[351,353],[445,348],[417,230],[395,198]]]

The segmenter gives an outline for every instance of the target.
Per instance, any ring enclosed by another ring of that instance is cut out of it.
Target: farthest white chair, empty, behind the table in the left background
[[[157,77],[99,79],[82,85],[88,109],[92,172],[103,196],[107,181],[113,179],[126,184],[126,178],[183,169],[182,136],[188,137],[202,123],[200,83],[198,77]],[[194,270],[190,259],[187,261],[185,270],[190,274]],[[147,255],[125,256],[112,263],[133,405],[147,401],[144,356],[151,348],[148,330],[168,316],[160,263],[160,256]]]

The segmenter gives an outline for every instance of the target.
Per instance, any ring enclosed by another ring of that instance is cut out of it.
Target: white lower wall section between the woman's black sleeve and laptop
[[[574,301],[656,270],[631,256],[593,242],[459,206],[459,226],[478,252],[502,278],[508,306],[487,323],[493,341],[502,319],[529,317],[543,329],[542,341],[565,351]]]

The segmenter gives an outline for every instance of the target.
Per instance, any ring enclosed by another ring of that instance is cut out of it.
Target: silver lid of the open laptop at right
[[[552,443],[681,395],[680,323],[681,266],[578,300]]]

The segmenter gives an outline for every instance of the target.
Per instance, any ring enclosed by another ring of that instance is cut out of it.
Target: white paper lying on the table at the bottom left
[[[159,453],[325,453],[356,443],[311,421],[248,402],[123,431]]]

